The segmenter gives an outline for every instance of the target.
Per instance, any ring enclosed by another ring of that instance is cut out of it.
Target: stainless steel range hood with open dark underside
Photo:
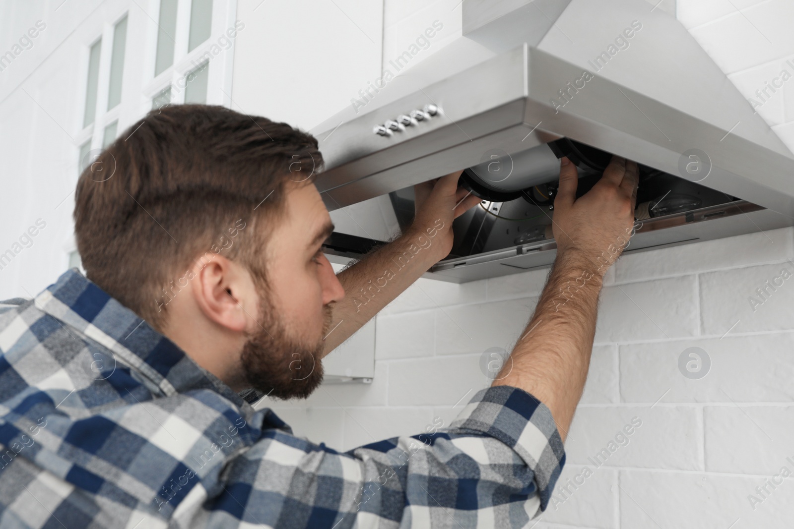
[[[402,75],[410,50],[404,62],[384,63],[384,78],[311,131],[325,158],[316,185],[332,217],[368,201],[391,205],[404,228],[411,186],[498,162],[528,189],[509,199],[475,193],[483,203],[456,220],[456,247],[430,277],[461,282],[545,266],[556,250],[544,229],[557,180],[551,151],[580,166],[579,194],[604,155],[641,164],[638,218],[646,220],[626,252],[794,225],[791,151],[661,8],[464,0],[458,9],[460,38]],[[673,206],[660,209],[661,201]],[[377,239],[335,233],[326,251],[355,258]]]

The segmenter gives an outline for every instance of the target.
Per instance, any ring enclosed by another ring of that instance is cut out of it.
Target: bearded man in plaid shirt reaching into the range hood
[[[575,200],[563,159],[557,260],[495,385],[448,428],[341,454],[238,393],[310,394],[320,358],[445,257],[478,199],[459,172],[418,186],[411,228],[336,276],[313,137],[195,105],[129,131],[78,182],[87,278],[0,309],[0,526],[523,527],[545,509],[636,164]],[[345,297],[411,245],[366,305]]]

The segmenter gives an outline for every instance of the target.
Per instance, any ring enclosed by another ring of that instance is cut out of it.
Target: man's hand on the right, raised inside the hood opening
[[[619,241],[631,234],[638,175],[637,163],[613,156],[601,179],[577,199],[576,165],[563,158],[552,227],[557,254],[572,251],[603,265],[593,270],[603,276],[622,253]]]

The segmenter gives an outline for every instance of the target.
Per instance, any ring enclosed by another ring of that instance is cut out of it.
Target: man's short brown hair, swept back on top
[[[314,181],[317,147],[286,123],[222,106],[152,110],[77,182],[75,236],[87,278],[160,331],[179,292],[174,281],[187,286],[198,255],[222,247],[264,282],[264,243],[285,184]]]

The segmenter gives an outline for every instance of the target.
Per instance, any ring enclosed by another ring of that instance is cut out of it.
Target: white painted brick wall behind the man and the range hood
[[[399,34],[454,20],[444,10],[455,5],[386,0],[384,56],[400,48]],[[677,13],[748,98],[794,59],[791,0],[678,0]],[[794,79],[759,113],[794,149]],[[748,301],[782,267],[794,272],[792,259],[794,228],[619,259],[601,296],[558,485],[585,466],[593,473],[578,489],[558,487],[536,529],[794,525],[794,477],[755,490],[783,467],[794,473],[794,277],[755,310]],[[464,285],[420,280],[377,316],[372,386],[329,387],[335,401],[321,389],[277,412],[295,417],[299,434],[345,450],[370,435],[417,433],[434,416],[449,424],[461,398],[487,384],[480,354],[509,350],[547,273]],[[680,373],[688,347],[710,356],[705,378]],[[596,467],[588,458],[633,417],[642,426]]]

